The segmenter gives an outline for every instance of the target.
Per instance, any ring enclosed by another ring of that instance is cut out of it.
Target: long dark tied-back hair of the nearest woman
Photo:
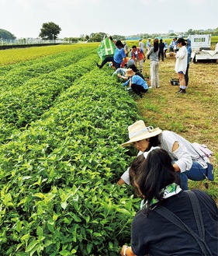
[[[140,155],[133,160],[130,165],[130,182],[140,195],[144,195],[149,205],[152,198],[161,201],[161,189],[174,182],[179,184],[179,178],[168,152],[164,149],[154,149],[147,159]]]

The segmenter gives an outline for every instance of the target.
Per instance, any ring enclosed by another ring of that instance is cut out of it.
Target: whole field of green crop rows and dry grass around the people
[[[161,88],[139,99],[109,66],[96,67],[97,46],[0,51],[1,256],[118,255],[140,206],[132,188],[116,185],[136,156],[120,144],[139,119],[213,149],[206,191],[218,198],[217,65],[192,64],[182,98],[169,85],[169,58]]]

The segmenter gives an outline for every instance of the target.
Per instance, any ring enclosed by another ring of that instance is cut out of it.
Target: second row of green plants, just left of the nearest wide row
[[[95,64],[95,55],[90,54],[66,68],[60,68],[38,78],[29,79],[23,86],[2,93],[0,96],[0,142],[8,139],[12,131],[23,128],[40,118],[44,111],[54,105],[65,89],[89,72]]]

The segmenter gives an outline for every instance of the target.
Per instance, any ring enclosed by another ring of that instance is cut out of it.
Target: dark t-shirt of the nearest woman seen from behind
[[[206,243],[213,255],[218,255],[217,207],[205,192],[195,191],[199,199],[202,219],[205,226]],[[174,212],[193,231],[198,233],[189,195],[181,191],[160,202]],[[158,207],[158,206],[157,206]],[[194,237],[181,230],[157,212],[144,210],[137,212],[132,224],[132,250],[142,256],[200,256],[202,252]]]

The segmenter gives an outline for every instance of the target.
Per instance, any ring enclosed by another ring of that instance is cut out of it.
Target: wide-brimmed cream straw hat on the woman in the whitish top
[[[128,127],[129,138],[128,142],[121,144],[121,146],[129,146],[133,142],[138,142],[142,139],[147,139],[159,135],[162,130],[160,128],[153,128],[152,126],[146,127],[144,121],[140,120],[131,124]]]

